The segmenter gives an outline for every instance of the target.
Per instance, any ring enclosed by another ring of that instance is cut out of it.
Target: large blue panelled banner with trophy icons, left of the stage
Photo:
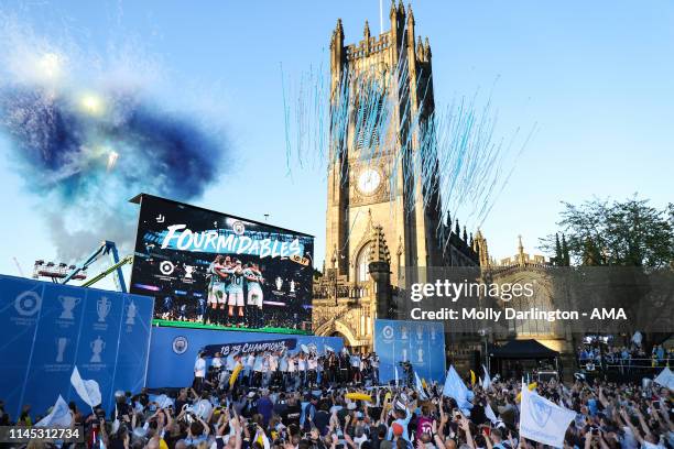
[[[144,386],[154,299],[0,275],[0,398],[15,419],[22,405],[44,415],[70,385],[76,365],[98,382],[109,409],[117,390]]]

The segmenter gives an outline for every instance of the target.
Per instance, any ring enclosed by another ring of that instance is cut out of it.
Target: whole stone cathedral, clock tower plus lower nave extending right
[[[554,291],[554,267],[525,253],[521,239],[514,256],[497,262],[480,230],[474,237],[449,212],[443,217],[437,158],[433,145],[425,152],[421,145],[435,107],[431,45],[416,36],[410,7],[392,4],[389,19],[390,30],[378,36],[366,22],[355,44],[345,44],[338,20],[330,40],[330,113],[339,117],[330,120],[326,255],[314,280],[312,328],[343,337],[356,352],[373,349],[374,319],[405,319],[407,277],[424,269],[474,267],[489,283],[535,281],[529,303],[511,304],[521,309],[552,307]],[[509,326],[448,332],[445,355],[457,368],[477,369],[485,348],[513,338],[567,353],[572,348],[556,325]]]

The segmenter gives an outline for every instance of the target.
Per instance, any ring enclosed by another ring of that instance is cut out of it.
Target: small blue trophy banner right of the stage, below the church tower
[[[428,382],[445,380],[445,333],[442,322],[374,320],[374,351],[379,355],[379,380],[395,379],[400,362],[407,361],[421,379]]]

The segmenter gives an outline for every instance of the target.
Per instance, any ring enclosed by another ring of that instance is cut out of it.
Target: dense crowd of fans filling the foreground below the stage
[[[494,380],[487,387],[466,383],[470,405],[459,407],[437,383],[254,386],[237,376],[231,384],[204,383],[174,395],[119,392],[109,414],[99,407],[86,413],[75,404],[70,414],[73,426],[84,426],[86,447],[96,449],[543,448],[520,436],[520,380]],[[551,380],[535,391],[575,412],[565,448],[674,448],[672,393],[656,384]],[[30,414],[15,421],[30,424]],[[0,423],[12,419],[2,410]]]

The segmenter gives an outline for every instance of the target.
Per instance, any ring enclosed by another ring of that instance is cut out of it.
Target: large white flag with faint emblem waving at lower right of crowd
[[[561,448],[564,435],[576,413],[559,407],[552,401],[530,392],[522,384],[522,405],[520,413],[520,435],[543,445]]]

